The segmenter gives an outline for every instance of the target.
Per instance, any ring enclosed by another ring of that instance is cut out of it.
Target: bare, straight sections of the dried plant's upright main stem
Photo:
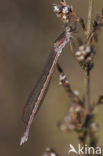
[[[94,0],[89,0],[88,21],[87,21],[87,39],[91,33],[93,6],[94,6]],[[89,108],[90,108],[90,71],[89,69],[85,71],[85,81],[86,81],[85,82],[86,83],[85,108],[86,108],[86,113],[88,113]]]

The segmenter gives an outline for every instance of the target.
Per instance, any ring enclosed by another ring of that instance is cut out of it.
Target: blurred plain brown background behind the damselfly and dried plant
[[[67,0],[69,3],[69,0]],[[40,76],[53,41],[63,31],[62,23],[52,11],[55,0],[0,1],[0,155],[42,156],[46,147],[53,147],[60,156],[67,156],[69,144],[77,145],[75,133],[61,132],[56,123],[63,119],[69,99],[58,85],[57,70],[43,105],[33,120],[29,140],[19,146],[24,131],[23,107]],[[88,0],[71,0],[78,15],[87,19]],[[103,8],[103,0],[95,1],[94,16]],[[103,31],[96,45],[95,68],[91,74],[91,102],[103,94]],[[66,46],[59,63],[73,89],[84,92],[83,72]],[[103,145],[103,106],[96,121]]]

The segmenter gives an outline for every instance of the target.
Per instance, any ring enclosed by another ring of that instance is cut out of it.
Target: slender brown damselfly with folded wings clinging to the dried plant
[[[28,140],[29,130],[33,118],[38,112],[40,105],[45,97],[58,58],[62,53],[63,48],[71,40],[72,31],[73,30],[71,26],[66,26],[65,31],[54,42],[53,49],[49,54],[47,63],[40,76],[40,79],[38,80],[35,88],[33,89],[27,101],[24,115],[27,114],[28,118],[26,120],[26,127],[25,127],[24,134],[21,138],[20,145],[22,145],[24,142]]]

